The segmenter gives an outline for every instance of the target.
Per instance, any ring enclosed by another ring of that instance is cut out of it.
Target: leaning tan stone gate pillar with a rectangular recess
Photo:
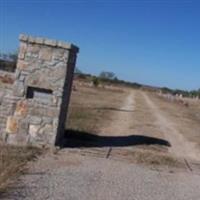
[[[78,51],[72,44],[20,35],[7,143],[62,143]]]

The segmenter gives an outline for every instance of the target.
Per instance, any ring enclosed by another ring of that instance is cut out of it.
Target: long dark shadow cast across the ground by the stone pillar
[[[98,136],[87,132],[66,130],[63,147],[125,147],[135,145],[171,146],[166,140],[143,135]]]

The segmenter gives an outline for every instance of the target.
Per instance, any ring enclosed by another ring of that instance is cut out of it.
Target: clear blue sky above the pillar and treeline
[[[192,0],[0,0],[0,51],[20,33],[72,42],[84,72],[200,88],[200,3]]]

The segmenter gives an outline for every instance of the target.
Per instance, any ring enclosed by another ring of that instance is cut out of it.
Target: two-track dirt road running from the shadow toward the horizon
[[[136,109],[138,112],[136,112]],[[179,108],[174,112],[179,112]],[[136,122],[137,124],[135,124]],[[181,127],[185,126],[178,118],[176,121],[172,121],[170,115],[162,111],[153,99],[148,96],[148,93],[131,91],[124,100],[119,112],[113,115],[113,120],[110,125],[102,128],[100,134],[109,136],[139,134],[162,138],[170,143],[171,147],[169,147],[168,150],[172,156],[200,161],[200,150],[197,144],[188,141],[184,135],[180,133],[175,126],[177,123]]]

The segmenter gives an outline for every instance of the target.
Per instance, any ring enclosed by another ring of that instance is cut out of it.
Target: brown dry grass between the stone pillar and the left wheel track
[[[126,91],[94,87],[78,87],[72,92],[69,106],[68,129],[98,133],[102,125],[109,124],[111,112],[122,103]]]

